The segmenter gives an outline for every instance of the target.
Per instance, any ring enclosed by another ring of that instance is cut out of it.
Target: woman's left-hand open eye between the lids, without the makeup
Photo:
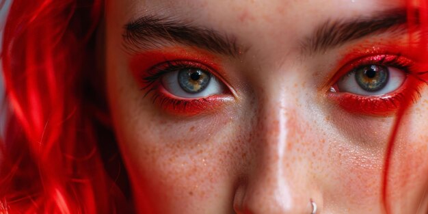
[[[202,68],[176,68],[161,77],[165,90],[178,98],[204,98],[222,94],[225,85]]]

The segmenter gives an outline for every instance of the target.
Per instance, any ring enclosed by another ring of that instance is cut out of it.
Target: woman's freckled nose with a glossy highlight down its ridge
[[[235,191],[237,213],[310,214],[314,206],[321,213],[322,199],[309,168],[310,143],[303,143],[299,113],[282,100],[264,102],[258,111],[251,170]]]

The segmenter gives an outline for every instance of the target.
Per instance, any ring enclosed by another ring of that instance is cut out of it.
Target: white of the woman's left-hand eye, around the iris
[[[220,82],[217,78],[211,75],[211,80],[209,81],[206,88],[201,92],[191,94],[183,90],[178,83],[178,72],[180,70],[176,70],[173,72],[168,72],[163,75],[161,78],[161,83],[165,90],[170,92],[174,96],[178,96],[180,98],[204,98],[214,94],[222,94],[224,92],[224,84]]]

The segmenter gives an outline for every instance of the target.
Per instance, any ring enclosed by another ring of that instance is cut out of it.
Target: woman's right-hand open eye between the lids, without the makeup
[[[398,90],[406,79],[406,72],[393,66],[368,64],[360,66],[337,82],[339,92],[363,96],[381,96]]]

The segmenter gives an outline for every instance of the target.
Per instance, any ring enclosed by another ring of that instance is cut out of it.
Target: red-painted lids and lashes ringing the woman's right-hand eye
[[[381,96],[362,96],[340,92],[329,92],[327,93],[328,96],[333,98],[343,109],[351,113],[372,116],[389,116],[402,107],[403,103],[407,103],[407,98],[410,98],[413,102],[418,100],[420,97],[420,81],[414,77],[413,70],[416,70],[414,68],[415,64],[410,59],[402,57],[400,54],[373,55],[356,59],[339,70],[333,81],[335,85],[332,88],[336,87],[336,82],[340,78],[351,75],[361,66],[371,64],[390,66],[402,70],[406,74],[403,85],[401,85],[396,92]]]

